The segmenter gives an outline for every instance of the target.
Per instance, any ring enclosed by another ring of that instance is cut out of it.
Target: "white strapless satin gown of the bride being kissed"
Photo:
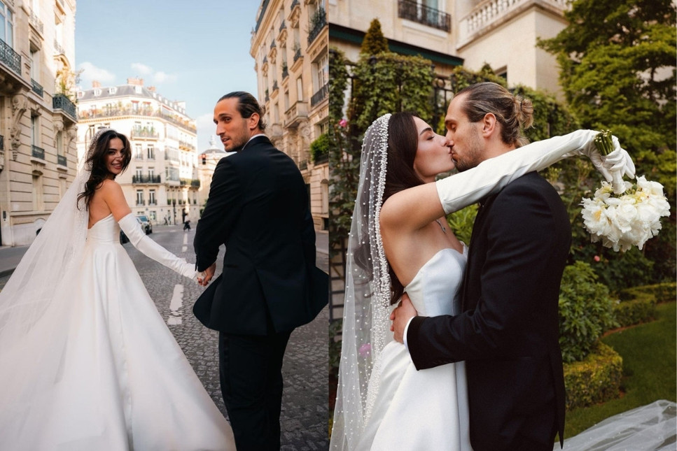
[[[419,315],[459,313],[466,258],[442,249],[421,266],[405,287]],[[463,361],[417,371],[405,346],[391,341],[382,352],[380,374],[372,414],[356,450],[472,449]]]

